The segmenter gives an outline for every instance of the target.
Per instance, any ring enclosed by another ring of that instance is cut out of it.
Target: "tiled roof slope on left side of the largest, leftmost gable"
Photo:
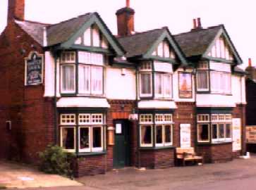
[[[93,14],[87,13],[47,27],[47,46],[66,42],[75,32],[78,32],[80,27],[90,20]]]

